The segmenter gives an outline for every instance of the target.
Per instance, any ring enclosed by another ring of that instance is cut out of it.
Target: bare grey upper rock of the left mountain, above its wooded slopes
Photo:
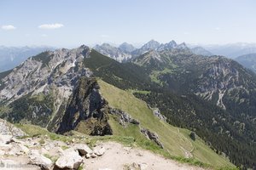
[[[26,94],[47,93],[52,86],[61,84],[63,94],[70,93],[73,84],[67,80],[75,82],[80,76],[90,75],[90,71],[83,68],[83,59],[89,54],[90,48],[81,46],[45,51],[26,59],[1,80],[0,99],[11,102]]]

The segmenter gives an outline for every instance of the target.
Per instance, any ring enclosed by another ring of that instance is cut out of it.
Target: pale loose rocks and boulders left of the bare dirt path
[[[9,123],[10,124],[10,123]],[[14,127],[14,125],[12,125]],[[1,125],[9,128],[9,125]],[[28,137],[19,128],[16,139],[13,135],[0,133],[0,163],[1,169],[17,167],[18,169],[78,169],[85,159],[96,158],[105,153],[103,147],[93,150],[87,144],[79,144],[73,139],[71,142],[52,140],[48,135]],[[11,133],[12,130],[9,130]],[[22,135],[22,136],[21,136]]]

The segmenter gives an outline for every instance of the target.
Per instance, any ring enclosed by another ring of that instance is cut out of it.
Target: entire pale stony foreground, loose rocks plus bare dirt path
[[[96,142],[90,148],[83,139],[73,138],[66,142],[50,139],[48,135],[28,137],[9,122],[0,120],[0,125],[1,170],[201,169],[116,142]]]

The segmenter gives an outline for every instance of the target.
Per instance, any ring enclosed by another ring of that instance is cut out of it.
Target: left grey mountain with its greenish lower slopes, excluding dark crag
[[[0,105],[9,108],[9,113],[2,112],[1,117],[52,131],[80,77],[92,75],[84,68],[84,58],[89,54],[90,48],[81,46],[47,51],[26,59],[1,77]]]

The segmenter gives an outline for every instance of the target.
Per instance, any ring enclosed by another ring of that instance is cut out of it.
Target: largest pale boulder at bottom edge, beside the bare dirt
[[[55,162],[55,167],[58,167],[60,169],[78,169],[83,162],[83,158],[79,156],[79,151],[70,148],[65,150],[64,152],[64,155]]]

